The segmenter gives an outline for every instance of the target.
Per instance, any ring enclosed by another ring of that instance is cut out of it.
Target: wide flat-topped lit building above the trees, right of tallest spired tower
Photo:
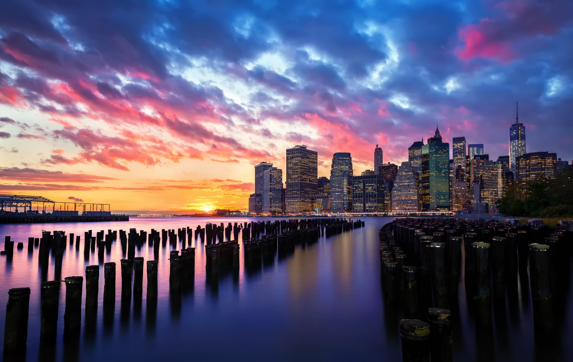
[[[555,163],[557,154],[550,152],[531,152],[517,156],[516,173],[517,182],[522,186],[535,181],[538,176],[552,178],[555,176]]]

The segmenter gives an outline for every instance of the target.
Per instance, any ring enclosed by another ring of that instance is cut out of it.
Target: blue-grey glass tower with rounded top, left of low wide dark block
[[[352,211],[352,157],[350,152],[332,155],[330,207],[332,211]]]

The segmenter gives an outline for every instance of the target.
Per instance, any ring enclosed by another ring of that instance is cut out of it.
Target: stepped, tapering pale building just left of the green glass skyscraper
[[[410,162],[402,162],[394,180],[392,195],[392,211],[419,211],[418,173]]]

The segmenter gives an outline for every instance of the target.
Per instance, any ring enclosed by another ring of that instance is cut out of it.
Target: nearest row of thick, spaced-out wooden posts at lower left
[[[47,236],[47,235],[46,235]],[[97,238],[97,237],[96,237]],[[46,239],[49,239],[46,237]],[[49,245],[49,243],[48,243]],[[182,273],[185,278],[193,278],[194,248],[185,249],[186,259]],[[191,257],[193,255],[193,257]],[[121,301],[131,300],[132,293],[143,293],[143,258],[121,259]],[[158,261],[147,261],[147,300],[156,302],[158,289]],[[171,271],[173,274],[173,271]],[[104,314],[106,309],[115,305],[116,263],[104,263],[104,294],[102,296]],[[171,278],[175,278],[173,275]],[[179,280],[181,277],[179,277]],[[94,328],[98,306],[99,265],[85,267],[85,328]],[[40,344],[44,348],[54,344],[57,335],[58,302],[60,285],[65,283],[64,340],[77,340],[81,328],[81,301],[83,294],[83,276],[66,277],[64,280],[45,281],[40,285]],[[5,357],[22,356],[28,338],[28,309],[30,288],[13,288],[8,291],[6,306],[6,324],[4,337]]]

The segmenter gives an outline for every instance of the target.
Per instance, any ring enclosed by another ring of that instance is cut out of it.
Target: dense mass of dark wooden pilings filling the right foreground
[[[457,306],[462,274],[466,293],[473,296],[476,327],[489,330],[492,305],[505,309],[506,290],[517,288],[518,275],[528,277],[529,266],[536,340],[551,339],[552,297],[559,290],[559,266],[568,265],[572,234],[545,225],[460,219],[405,218],[384,225],[379,233],[384,297],[388,305],[403,302],[403,360],[427,361],[429,353],[433,361],[452,360],[451,335],[444,333],[451,331],[448,308]],[[441,328],[437,337],[433,324]]]

